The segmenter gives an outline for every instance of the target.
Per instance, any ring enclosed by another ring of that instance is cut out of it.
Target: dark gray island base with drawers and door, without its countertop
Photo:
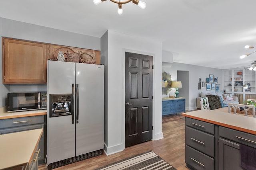
[[[185,162],[192,170],[242,170],[240,145],[256,149],[256,135],[186,117]]]

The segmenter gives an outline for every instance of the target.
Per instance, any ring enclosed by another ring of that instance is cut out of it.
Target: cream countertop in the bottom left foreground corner
[[[31,162],[43,129],[0,135],[0,169]]]

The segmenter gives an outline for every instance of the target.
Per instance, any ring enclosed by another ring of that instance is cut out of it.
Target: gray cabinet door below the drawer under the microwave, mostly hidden
[[[44,133],[45,132],[44,124],[27,125],[27,126],[0,129],[0,135],[6,134],[6,133],[27,131],[27,130],[32,130],[32,129],[41,129],[41,128],[43,129],[43,134],[42,134],[41,139],[38,143],[38,148],[40,149],[40,152],[38,154],[38,161],[39,161],[39,163],[43,163],[44,162],[44,134],[45,134]]]

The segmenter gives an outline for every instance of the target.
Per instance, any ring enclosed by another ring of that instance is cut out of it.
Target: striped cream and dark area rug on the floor
[[[152,150],[96,170],[176,170]]]

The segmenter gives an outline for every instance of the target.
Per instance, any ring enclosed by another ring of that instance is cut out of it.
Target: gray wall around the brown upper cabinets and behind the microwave
[[[100,38],[20,21],[0,18],[1,37],[24,39],[42,43],[78,47],[84,49],[94,49],[100,51]],[[2,51],[2,45],[1,45]],[[2,75],[2,53],[0,54],[0,71]],[[7,105],[8,92],[21,91],[47,91],[47,84],[2,84],[0,85],[0,107]]]

